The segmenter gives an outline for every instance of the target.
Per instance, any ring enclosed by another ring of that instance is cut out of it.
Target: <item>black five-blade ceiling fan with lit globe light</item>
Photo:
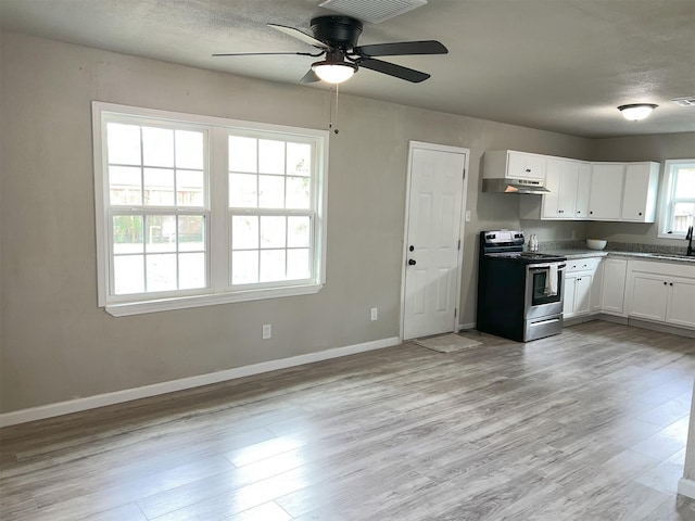
[[[376,60],[375,56],[403,56],[410,54],[446,54],[448,50],[437,40],[401,41],[357,46],[362,34],[362,22],[351,16],[317,16],[311,21],[312,33],[307,35],[294,27],[268,24],[286,35],[292,36],[317,49],[316,52],[241,52],[220,53],[213,56],[244,56],[261,54],[296,54],[300,56],[324,56],[325,60],[312,64],[312,68],[301,79],[302,84],[328,81],[340,84],[351,78],[359,67],[388,74],[396,78],[418,84],[430,77],[429,74],[394,63]]]

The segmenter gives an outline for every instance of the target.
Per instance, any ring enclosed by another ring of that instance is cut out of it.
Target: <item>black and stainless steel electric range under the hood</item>
[[[522,231],[480,232],[477,329],[518,342],[563,331],[567,260],[523,244]]]

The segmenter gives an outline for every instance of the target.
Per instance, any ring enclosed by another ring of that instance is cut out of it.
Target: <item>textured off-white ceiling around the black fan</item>
[[[1,0],[0,23],[50,39],[298,82],[313,59],[211,54],[311,51],[265,24],[311,34],[309,18],[330,14],[319,3]],[[670,101],[695,96],[695,0],[429,0],[365,24],[359,43],[425,39],[440,40],[450,53],[384,60],[430,73],[427,81],[361,69],[341,92],[585,137],[695,131],[695,107]],[[636,102],[659,107],[646,120],[624,120],[616,107]]]

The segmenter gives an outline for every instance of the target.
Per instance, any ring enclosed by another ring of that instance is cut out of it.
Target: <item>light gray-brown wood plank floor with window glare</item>
[[[695,520],[695,341],[414,343],[5,428],[3,520]]]

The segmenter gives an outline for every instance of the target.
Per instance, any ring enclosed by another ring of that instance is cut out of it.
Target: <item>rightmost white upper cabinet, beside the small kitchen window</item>
[[[627,164],[621,220],[654,223],[658,185],[658,163]]]

